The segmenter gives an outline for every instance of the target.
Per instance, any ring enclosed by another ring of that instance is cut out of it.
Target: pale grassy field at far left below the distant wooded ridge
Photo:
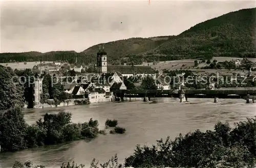
[[[44,63],[52,63],[52,61],[44,61]],[[0,65],[11,67],[14,69],[26,69],[26,68],[33,68],[35,65],[40,64],[40,61],[38,62],[27,62],[25,65],[24,62],[12,62],[12,63],[0,63]]]

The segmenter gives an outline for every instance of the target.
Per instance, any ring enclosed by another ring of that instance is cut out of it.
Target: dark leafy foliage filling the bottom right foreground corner
[[[157,140],[153,147],[137,146],[125,166],[133,167],[253,167],[256,164],[256,117],[234,129],[217,123],[215,131],[181,134]]]

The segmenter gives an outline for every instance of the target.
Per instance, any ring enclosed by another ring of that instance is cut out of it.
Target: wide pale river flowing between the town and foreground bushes
[[[212,130],[218,122],[233,123],[244,121],[256,115],[256,104],[246,104],[245,100],[189,99],[190,103],[179,103],[179,99],[163,98],[155,103],[123,102],[99,103],[81,106],[32,109],[25,111],[28,123],[34,123],[46,112],[59,110],[71,112],[72,122],[86,122],[97,119],[100,129],[107,118],[118,119],[119,126],[126,129],[125,134],[99,135],[86,141],[79,140],[65,144],[45,146],[19,152],[0,153],[0,167],[12,167],[15,160],[33,161],[47,167],[60,167],[62,162],[75,161],[90,167],[93,158],[101,163],[117,154],[119,161],[133,154],[135,146],[152,145],[157,139],[168,135],[175,138],[179,133],[200,129]]]

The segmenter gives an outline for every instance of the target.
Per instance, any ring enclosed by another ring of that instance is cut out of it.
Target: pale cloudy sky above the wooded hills
[[[131,37],[178,35],[255,1],[1,1],[0,53],[81,52]]]

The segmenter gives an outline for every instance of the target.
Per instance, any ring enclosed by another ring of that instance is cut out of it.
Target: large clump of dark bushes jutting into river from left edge
[[[94,138],[98,135],[98,121],[71,123],[71,113],[61,111],[44,115],[33,125],[28,125],[22,109],[15,107],[0,114],[1,151],[19,151],[65,141]]]

